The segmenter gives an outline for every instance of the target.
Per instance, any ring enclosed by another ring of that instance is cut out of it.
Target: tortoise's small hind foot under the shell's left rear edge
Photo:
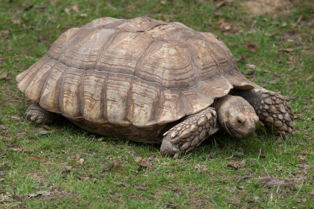
[[[43,109],[38,102],[33,102],[26,110],[25,117],[36,121],[37,124],[50,123],[56,117],[56,113]]]

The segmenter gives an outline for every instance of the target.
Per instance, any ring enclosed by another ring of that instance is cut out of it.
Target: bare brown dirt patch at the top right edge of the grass
[[[253,16],[274,13],[289,5],[287,0],[248,0],[241,3]]]

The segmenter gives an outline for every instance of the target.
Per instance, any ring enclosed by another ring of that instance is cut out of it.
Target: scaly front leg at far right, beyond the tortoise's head
[[[268,131],[286,135],[295,130],[293,111],[282,95],[266,89],[239,91],[236,95],[253,106]]]

